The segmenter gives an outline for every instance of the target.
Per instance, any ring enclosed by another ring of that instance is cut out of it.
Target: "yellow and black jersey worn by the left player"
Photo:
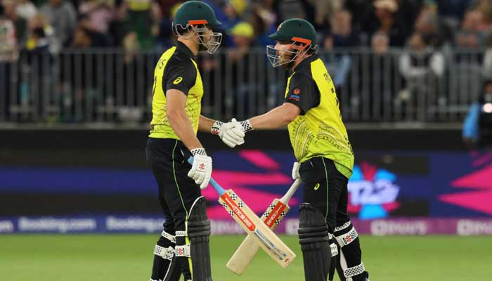
[[[186,95],[186,115],[190,118],[195,134],[198,131],[202,106],[203,84],[195,55],[183,43],[169,48],[160,57],[154,70],[151,138],[179,140],[167,120],[166,91],[176,89]]]

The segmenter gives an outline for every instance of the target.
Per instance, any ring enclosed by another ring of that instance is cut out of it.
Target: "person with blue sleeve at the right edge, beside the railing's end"
[[[481,112],[492,113],[492,80],[484,81],[479,100],[470,107],[465,122],[463,122],[462,138],[469,148],[473,148],[480,141],[479,117]]]

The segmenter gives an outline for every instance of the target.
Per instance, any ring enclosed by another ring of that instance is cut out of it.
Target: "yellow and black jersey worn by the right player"
[[[342,122],[335,86],[318,55],[311,55],[294,69],[287,80],[285,103],[301,109],[288,125],[290,142],[299,162],[325,157],[349,178],[354,167],[347,129]]]

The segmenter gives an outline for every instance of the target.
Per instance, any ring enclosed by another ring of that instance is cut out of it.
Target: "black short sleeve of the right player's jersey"
[[[301,115],[320,103],[320,93],[312,77],[303,73],[294,73],[290,79],[285,103],[292,103],[301,109]]]

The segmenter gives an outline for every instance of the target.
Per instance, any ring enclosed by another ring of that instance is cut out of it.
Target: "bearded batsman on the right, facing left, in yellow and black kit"
[[[332,280],[336,264],[340,280],[367,281],[358,234],[347,214],[354,152],[335,86],[317,55],[316,31],[306,20],[294,18],[282,22],[270,38],[277,42],[266,47],[273,67],[281,65],[293,72],[285,100],[264,115],[240,122],[242,130],[288,127],[297,158],[292,177],[304,183],[299,242],[305,280],[326,281],[328,275]]]

